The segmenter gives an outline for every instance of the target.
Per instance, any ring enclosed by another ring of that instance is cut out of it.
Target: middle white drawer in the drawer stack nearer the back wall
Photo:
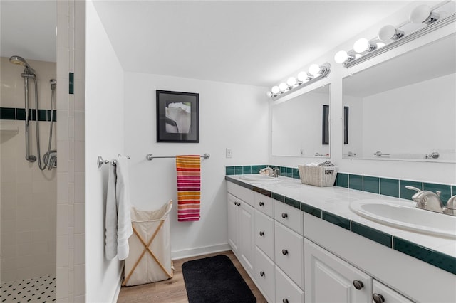
[[[274,260],[274,219],[255,211],[255,244]]]

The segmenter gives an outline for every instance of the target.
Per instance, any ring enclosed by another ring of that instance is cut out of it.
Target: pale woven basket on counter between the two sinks
[[[337,166],[298,165],[299,177],[303,184],[320,187],[333,186],[338,171]]]

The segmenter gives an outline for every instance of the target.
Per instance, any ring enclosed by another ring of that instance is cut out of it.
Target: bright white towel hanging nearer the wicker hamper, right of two
[[[119,156],[115,165],[117,182],[115,184],[115,196],[117,199],[118,222],[117,222],[117,256],[119,260],[128,257],[128,238],[133,235],[130,216],[130,186],[128,185],[128,162],[125,156]]]

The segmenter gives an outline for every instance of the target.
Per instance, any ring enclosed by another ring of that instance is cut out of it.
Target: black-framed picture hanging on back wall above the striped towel
[[[157,90],[157,142],[199,143],[199,94]]]

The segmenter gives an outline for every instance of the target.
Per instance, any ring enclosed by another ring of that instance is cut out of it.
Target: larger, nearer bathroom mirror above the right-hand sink
[[[343,78],[345,159],[456,162],[456,35]]]

